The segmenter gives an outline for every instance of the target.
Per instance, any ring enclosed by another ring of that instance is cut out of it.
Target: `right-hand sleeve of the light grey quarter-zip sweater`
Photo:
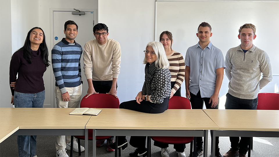
[[[272,68],[269,56],[264,51],[261,56],[260,68],[262,71],[262,79],[260,79],[260,89],[264,88],[270,81],[272,81]]]

